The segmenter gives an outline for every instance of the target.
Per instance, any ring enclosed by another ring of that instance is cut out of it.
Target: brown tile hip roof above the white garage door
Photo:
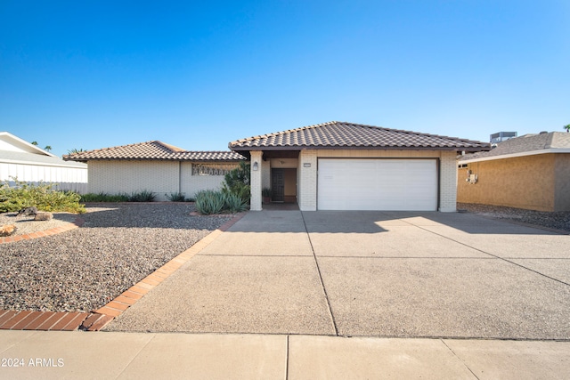
[[[488,142],[338,121],[232,141],[229,147],[231,150],[318,148],[479,151],[491,149]]]

